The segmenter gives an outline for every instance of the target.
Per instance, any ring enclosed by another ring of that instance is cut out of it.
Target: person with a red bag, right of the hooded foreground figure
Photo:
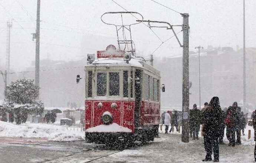
[[[233,109],[232,106],[229,106],[229,108],[227,109],[225,124],[227,126],[226,136],[227,140],[229,140],[229,146],[232,145],[234,147],[236,142],[236,111]]]

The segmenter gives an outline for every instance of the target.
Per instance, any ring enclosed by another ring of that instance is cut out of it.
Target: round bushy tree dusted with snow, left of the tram
[[[0,111],[16,117],[16,123],[25,123],[28,114],[42,114],[44,104],[37,101],[39,87],[33,80],[20,79],[6,87],[6,99],[0,103]],[[13,118],[12,118],[13,119]],[[10,120],[11,121],[11,120]]]

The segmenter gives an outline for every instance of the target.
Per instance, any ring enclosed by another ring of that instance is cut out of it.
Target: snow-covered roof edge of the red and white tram
[[[146,62],[138,59],[131,58],[129,63],[126,63],[123,58],[99,58],[95,59],[91,64],[87,64],[85,67],[94,66],[134,66],[140,67],[141,69],[147,69],[153,71],[154,73],[160,75],[160,71],[150,66]]]

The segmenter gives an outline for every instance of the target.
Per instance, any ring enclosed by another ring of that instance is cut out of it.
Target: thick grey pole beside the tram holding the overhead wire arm
[[[188,13],[183,16],[183,83],[182,83],[182,134],[181,141],[189,142],[189,26]]]

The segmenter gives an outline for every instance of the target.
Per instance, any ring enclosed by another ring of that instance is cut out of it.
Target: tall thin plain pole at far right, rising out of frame
[[[246,109],[245,2],[243,0],[243,111]]]

